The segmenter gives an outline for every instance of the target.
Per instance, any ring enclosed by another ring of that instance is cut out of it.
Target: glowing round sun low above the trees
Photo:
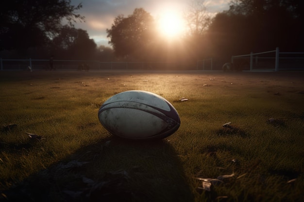
[[[168,38],[181,37],[185,32],[185,22],[182,16],[174,12],[166,12],[158,17],[158,30]]]

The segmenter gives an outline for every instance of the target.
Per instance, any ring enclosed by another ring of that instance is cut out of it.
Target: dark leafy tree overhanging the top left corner
[[[70,0],[4,0],[0,2],[0,49],[37,47],[57,35],[63,18],[73,26],[84,16],[82,4]]]

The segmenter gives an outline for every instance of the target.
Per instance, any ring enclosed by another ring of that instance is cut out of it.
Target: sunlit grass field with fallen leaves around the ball
[[[109,134],[98,109],[128,90],[179,130]],[[0,72],[0,201],[302,202],[303,103],[304,72]]]

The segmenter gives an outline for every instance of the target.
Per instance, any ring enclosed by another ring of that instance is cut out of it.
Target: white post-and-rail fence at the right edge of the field
[[[232,56],[231,62],[241,65],[241,69],[247,65],[249,71],[304,70],[304,52],[280,52],[277,47],[271,51]]]

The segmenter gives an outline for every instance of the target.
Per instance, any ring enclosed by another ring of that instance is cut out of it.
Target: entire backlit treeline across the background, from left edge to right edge
[[[188,33],[179,40],[161,38],[155,19],[136,8],[119,15],[107,29],[109,47],[97,47],[87,31],[73,23],[82,4],[69,0],[11,0],[0,3],[0,57],[98,61],[178,62],[194,64],[214,58],[230,61],[232,55],[273,50],[304,51],[303,0],[232,0],[226,11],[208,16],[203,0],[193,0],[185,18]],[[16,6],[19,5],[19,6]],[[61,10],[62,12],[57,12]],[[62,26],[65,18],[67,25]],[[201,21],[194,21],[195,19]]]

